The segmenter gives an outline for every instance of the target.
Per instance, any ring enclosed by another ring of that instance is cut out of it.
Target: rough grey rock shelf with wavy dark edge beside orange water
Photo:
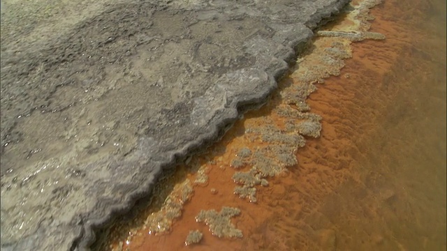
[[[88,250],[347,2],[2,1],[1,250]]]

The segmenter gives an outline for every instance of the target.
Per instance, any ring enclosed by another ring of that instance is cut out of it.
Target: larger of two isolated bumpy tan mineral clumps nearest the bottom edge
[[[196,216],[196,220],[197,222],[205,222],[212,234],[219,238],[242,238],[242,231],[237,229],[230,222],[230,218],[239,214],[239,208],[223,206],[219,213],[215,210],[200,211],[200,213]]]

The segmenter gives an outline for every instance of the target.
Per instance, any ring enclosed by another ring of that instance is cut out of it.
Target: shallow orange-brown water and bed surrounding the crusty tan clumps
[[[386,40],[354,43],[339,77],[329,77],[309,96],[323,129],[298,150],[298,165],[258,188],[256,204],[233,195],[231,160],[242,146],[259,144],[247,139],[245,130],[267,117],[284,127],[272,112],[281,102],[273,95],[210,153],[193,160],[207,166],[209,181],[194,186],[171,230],[133,232],[123,247],[446,250],[446,3],[386,0],[372,14],[371,31]],[[291,76],[280,89],[295,81]],[[196,222],[200,210],[222,206],[240,208],[232,222],[243,238],[217,238]],[[203,239],[185,247],[193,229],[203,232]]]

